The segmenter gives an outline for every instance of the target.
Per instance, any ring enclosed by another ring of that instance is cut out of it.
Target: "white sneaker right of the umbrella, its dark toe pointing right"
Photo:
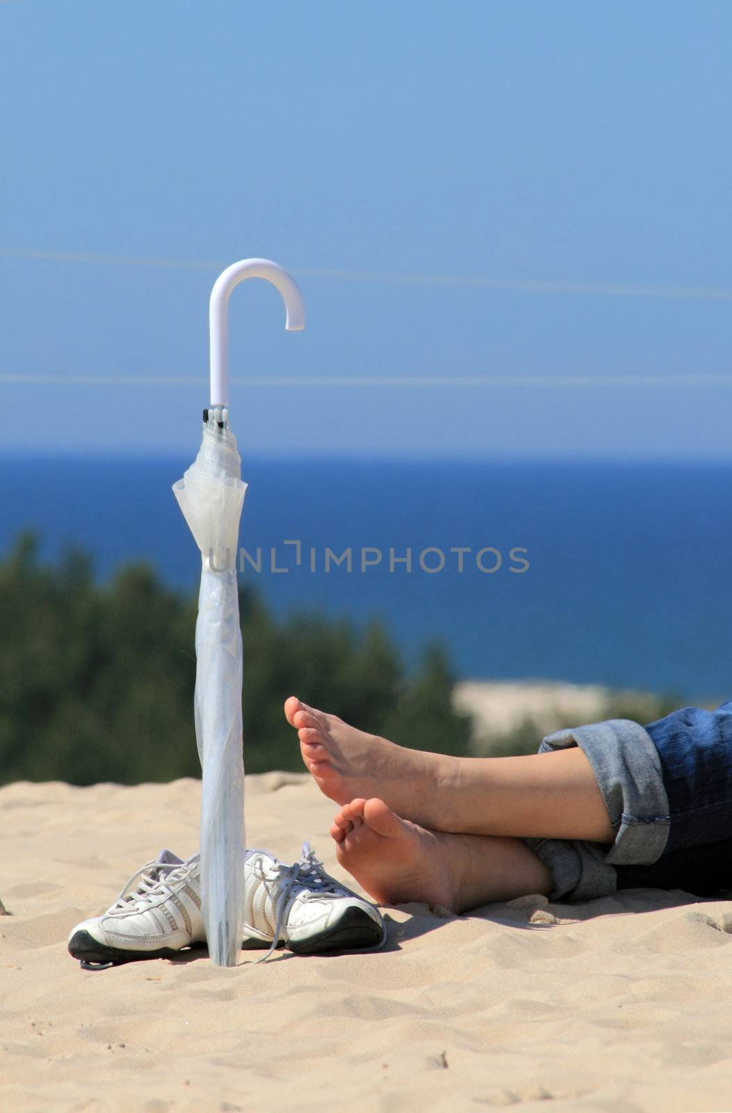
[[[308,843],[291,866],[247,850],[244,889],[245,947],[284,943],[297,955],[318,955],[377,949],[386,938],[378,908],[326,874]]]

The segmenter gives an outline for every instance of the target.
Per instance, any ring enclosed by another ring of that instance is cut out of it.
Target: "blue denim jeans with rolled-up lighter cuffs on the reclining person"
[[[646,727],[610,719],[560,730],[538,752],[571,746],[592,766],[615,840],[524,839],[552,873],[551,899],[732,888],[732,700],[715,711],[685,707]]]

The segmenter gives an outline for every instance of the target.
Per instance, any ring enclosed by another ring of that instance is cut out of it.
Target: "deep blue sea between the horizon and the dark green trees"
[[[188,463],[6,457],[0,549],[34,526],[49,555],[89,549],[100,577],[144,559],[192,589],[199,558],[170,492]],[[261,571],[241,575],[278,613],[378,617],[408,662],[439,639],[465,678],[732,692],[731,463],[279,459],[245,461],[244,477],[240,543]],[[350,549],[352,571],[325,572],[326,546]],[[362,571],[362,549],[380,563]],[[389,570],[392,549],[412,550],[410,572]],[[441,571],[419,567],[427,549]],[[479,550],[501,567],[481,571]]]

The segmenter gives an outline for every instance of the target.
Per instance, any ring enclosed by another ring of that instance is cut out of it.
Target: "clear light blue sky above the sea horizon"
[[[729,456],[731,40],[725,0],[0,0],[4,449],[192,450],[264,255],[308,327],[234,296],[247,452]]]

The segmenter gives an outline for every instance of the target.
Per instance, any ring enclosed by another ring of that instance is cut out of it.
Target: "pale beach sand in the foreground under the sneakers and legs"
[[[307,776],[248,778],[249,843],[309,837]],[[732,1110],[732,904],[650,889],[467,916],[384,909],[383,953],[85,973],[69,929],[167,846],[199,785],[0,789],[0,1107],[14,1111]]]

